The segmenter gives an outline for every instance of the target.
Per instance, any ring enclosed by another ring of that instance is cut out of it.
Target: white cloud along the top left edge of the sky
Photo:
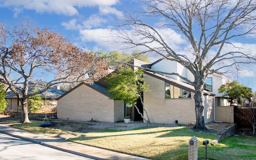
[[[22,9],[74,16],[78,15],[75,7],[111,6],[117,2],[118,0],[2,0],[1,7],[14,6],[16,8],[14,16],[17,16]]]

